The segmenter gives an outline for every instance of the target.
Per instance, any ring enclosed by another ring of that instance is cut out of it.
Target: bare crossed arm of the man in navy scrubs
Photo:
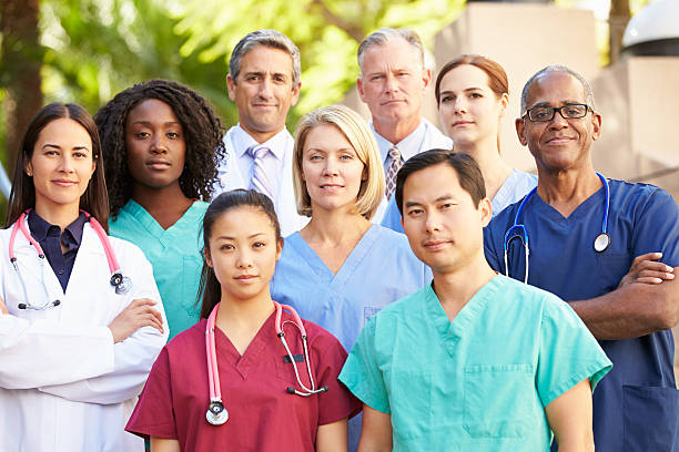
[[[632,261],[618,288],[600,297],[570,301],[591,333],[601,340],[628,339],[672,328],[679,321],[679,267],[648,253]]]

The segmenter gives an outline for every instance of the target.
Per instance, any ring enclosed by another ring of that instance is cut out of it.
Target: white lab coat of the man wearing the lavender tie
[[[234,151],[234,133],[237,129],[240,129],[239,125],[231,127],[224,136],[225,155],[219,164],[217,184],[215,185],[213,198],[222,192],[250,187],[250,174],[241,173],[237,162],[239,155]],[[287,130],[285,135],[283,174],[281,175],[276,199],[274,199],[274,207],[278,216],[283,237],[300,230],[308,223],[307,217],[297,214],[292,177],[294,138]]]

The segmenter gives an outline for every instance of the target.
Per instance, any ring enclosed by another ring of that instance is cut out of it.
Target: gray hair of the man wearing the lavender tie
[[[247,52],[257,45],[265,45],[287,52],[293,63],[293,86],[300,83],[300,74],[302,73],[300,49],[297,49],[290,38],[277,30],[257,30],[247,33],[239,41],[236,47],[233,48],[231,59],[229,60],[229,75],[231,75],[231,80],[233,80],[234,84],[236,83],[239,73],[241,73],[241,60]]]

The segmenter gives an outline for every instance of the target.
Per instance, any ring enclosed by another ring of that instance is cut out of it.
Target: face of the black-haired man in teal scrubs
[[[411,248],[434,273],[457,273],[483,258],[483,228],[490,220],[490,202],[482,199],[475,206],[447,163],[411,174],[403,187],[403,228]]]

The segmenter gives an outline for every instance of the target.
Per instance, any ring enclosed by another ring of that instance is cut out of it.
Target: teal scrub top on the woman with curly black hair
[[[153,266],[153,277],[161,295],[170,339],[199,321],[196,295],[203,268],[203,216],[209,204],[195,201],[168,229],[141,205],[130,199],[115,220],[109,220],[109,234],[139,246]]]

